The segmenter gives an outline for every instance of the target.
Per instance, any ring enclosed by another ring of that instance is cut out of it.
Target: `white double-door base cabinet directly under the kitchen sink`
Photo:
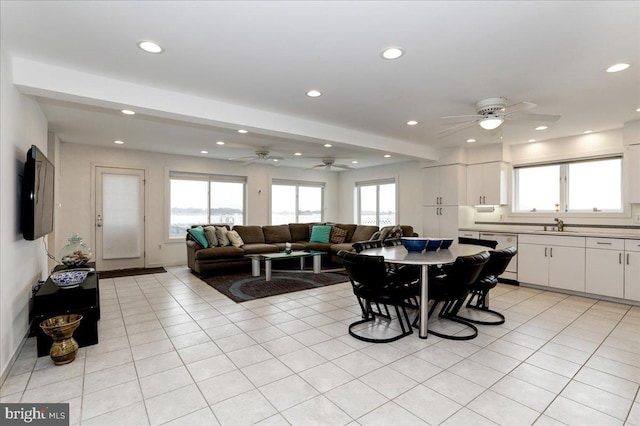
[[[585,238],[521,234],[518,281],[585,291]]]

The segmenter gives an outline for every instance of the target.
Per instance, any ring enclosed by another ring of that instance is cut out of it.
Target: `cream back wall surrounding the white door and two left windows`
[[[166,239],[168,218],[169,171],[211,173],[247,177],[247,224],[269,223],[271,179],[293,179],[326,182],[325,220],[337,221],[337,173],[324,170],[272,167],[258,164],[243,165],[236,161],[168,155],[129,150],[123,147],[97,148],[88,145],[60,144],[60,208],[57,235],[57,254],[73,233],[78,233],[94,248],[95,229],[93,203],[95,166],[129,167],[146,171],[146,266],[186,264],[184,240]]]

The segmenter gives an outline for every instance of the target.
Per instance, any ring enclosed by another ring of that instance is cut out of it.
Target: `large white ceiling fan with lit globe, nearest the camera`
[[[506,98],[487,98],[476,102],[476,114],[453,115],[442,117],[446,121],[463,121],[440,132],[440,135],[449,135],[457,131],[473,127],[476,123],[485,130],[494,130],[505,121],[527,121],[533,123],[555,123],[560,119],[559,115],[532,114],[523,112],[535,108],[532,102],[519,102],[507,105]]]

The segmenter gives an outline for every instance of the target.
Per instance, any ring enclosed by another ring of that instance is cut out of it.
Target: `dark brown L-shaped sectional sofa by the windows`
[[[341,262],[337,257],[340,250],[353,250],[353,243],[366,241],[378,231],[377,226],[330,223],[330,225],[347,232],[343,243],[309,242],[309,223],[290,223],[288,225],[236,225],[233,230],[238,232],[244,245],[241,247],[209,247],[202,248],[190,234],[187,233],[187,265],[198,275],[212,275],[216,271],[234,268],[249,268],[251,259],[247,254],[276,253],[283,251],[286,243],[291,243],[293,250],[318,250],[327,252],[323,256],[323,264]],[[193,225],[196,227],[198,225]],[[203,225],[208,226],[208,225]],[[221,225],[217,225],[221,226]],[[225,225],[227,229],[229,228]],[[412,226],[402,226],[402,234],[414,236]]]

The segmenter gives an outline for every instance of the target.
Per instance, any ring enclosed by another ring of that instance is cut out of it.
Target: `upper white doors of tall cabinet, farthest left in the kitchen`
[[[466,202],[466,167],[458,164],[422,171],[422,205],[458,206]]]

